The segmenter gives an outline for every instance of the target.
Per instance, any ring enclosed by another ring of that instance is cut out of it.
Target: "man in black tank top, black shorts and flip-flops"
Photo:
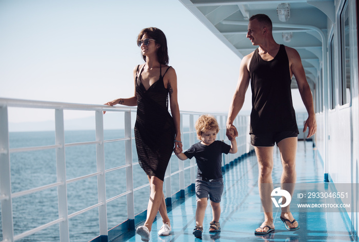
[[[265,217],[263,224],[254,233],[267,234],[274,231],[270,199],[270,192],[273,190],[274,143],[280,149],[283,164],[281,183],[287,184],[282,188],[292,195],[294,187],[288,184],[293,184],[296,180],[295,153],[299,132],[290,90],[293,75],[309,115],[304,125],[304,131],[309,127],[307,138],[315,134],[316,121],[313,98],[301,57],[295,49],[275,42],[270,18],[265,14],[253,15],[249,19],[247,38],[258,48],[245,56],[241,62],[240,76],[228,114],[227,136],[229,139],[232,139],[233,133],[234,136],[238,136],[233,121],[243,106],[251,82],[250,135],[258,161],[258,186]],[[285,201],[282,204],[285,204]],[[281,219],[288,230],[299,229],[289,206],[282,208]]]

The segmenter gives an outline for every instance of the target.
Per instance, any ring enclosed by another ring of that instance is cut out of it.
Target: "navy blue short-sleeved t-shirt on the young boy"
[[[228,154],[231,146],[215,140],[210,145],[201,142],[192,145],[184,152],[188,159],[196,158],[198,170],[197,178],[220,179],[222,178],[222,153]]]

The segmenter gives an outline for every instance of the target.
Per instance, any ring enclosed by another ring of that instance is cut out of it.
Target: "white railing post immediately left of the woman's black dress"
[[[126,165],[126,191],[127,194],[127,218],[129,220],[129,229],[135,229],[134,222],[134,194],[133,194],[133,166],[132,166],[132,133],[131,133],[131,111],[125,112],[125,160]]]

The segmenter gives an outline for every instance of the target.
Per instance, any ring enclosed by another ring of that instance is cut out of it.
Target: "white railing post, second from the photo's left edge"
[[[65,131],[64,131],[64,110],[55,109],[55,136],[56,144],[61,147],[56,149],[56,173],[57,182],[62,184],[57,188],[58,217],[64,221],[59,223],[60,241],[69,242],[69,219],[67,208],[67,185],[66,185],[66,160],[65,160]]]

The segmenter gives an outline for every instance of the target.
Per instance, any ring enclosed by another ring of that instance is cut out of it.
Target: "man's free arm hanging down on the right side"
[[[299,93],[301,94],[303,103],[307,109],[308,112],[308,119],[306,120],[304,124],[303,132],[307,130],[307,127],[309,127],[308,130],[308,136],[307,138],[313,136],[316,132],[316,121],[315,121],[315,113],[314,113],[314,104],[313,104],[313,96],[310,91],[310,87],[307,81],[307,78],[305,76],[301,56],[298,54],[298,52],[293,48],[286,47],[288,59],[289,59],[289,65],[290,70],[295,76]]]

